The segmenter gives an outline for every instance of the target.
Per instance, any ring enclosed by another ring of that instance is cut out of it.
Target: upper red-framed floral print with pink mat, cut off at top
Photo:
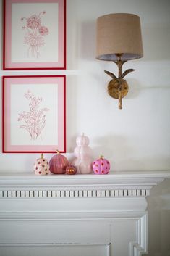
[[[66,69],[66,0],[4,0],[3,70]]]

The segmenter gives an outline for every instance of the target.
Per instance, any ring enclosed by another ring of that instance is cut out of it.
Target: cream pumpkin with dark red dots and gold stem
[[[49,173],[49,163],[48,160],[43,158],[43,154],[41,154],[41,158],[35,161],[34,172],[36,175],[47,175]]]

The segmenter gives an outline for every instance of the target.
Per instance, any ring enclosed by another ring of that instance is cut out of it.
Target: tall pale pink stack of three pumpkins
[[[78,174],[92,173],[92,149],[90,149],[90,146],[88,146],[88,137],[82,133],[82,136],[77,137],[76,143],[77,146],[74,151],[76,158],[72,161],[72,165],[75,165]]]

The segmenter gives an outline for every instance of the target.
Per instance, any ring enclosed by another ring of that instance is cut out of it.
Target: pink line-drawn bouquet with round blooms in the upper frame
[[[22,17],[21,21],[26,20],[25,25],[22,26],[25,29],[24,44],[28,45],[28,56],[31,52],[33,57],[39,57],[39,47],[45,45],[44,36],[48,35],[49,31],[46,26],[41,25],[41,15],[46,15],[46,12],[40,12],[39,15],[31,15],[30,17]]]

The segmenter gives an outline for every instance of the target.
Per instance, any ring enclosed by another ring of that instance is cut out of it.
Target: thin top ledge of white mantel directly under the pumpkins
[[[114,185],[151,184],[156,185],[170,178],[170,170],[119,171],[108,175],[48,175],[35,176],[34,173],[0,173],[0,186],[3,185]]]

